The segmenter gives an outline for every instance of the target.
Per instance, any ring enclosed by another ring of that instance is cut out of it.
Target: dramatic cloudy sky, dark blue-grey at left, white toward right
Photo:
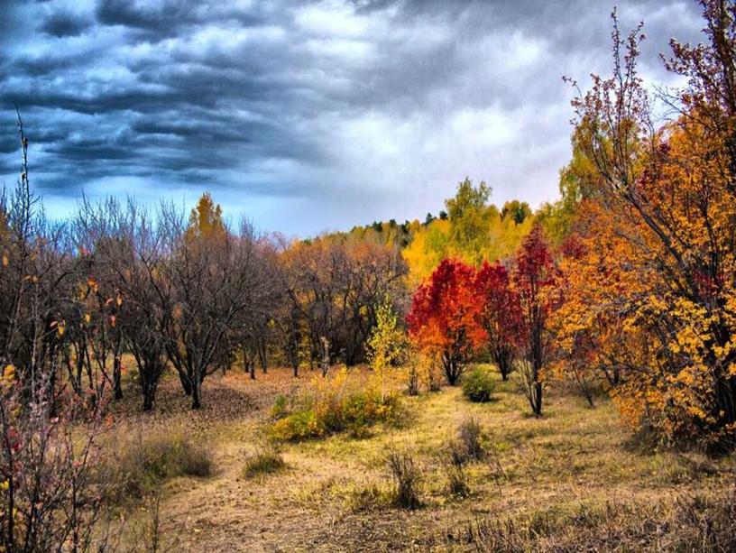
[[[571,90],[609,67],[613,0],[0,0],[0,183],[63,217],[84,193],[206,189],[288,235],[437,212],[458,180],[557,198]],[[619,2],[642,70],[699,41],[692,0]]]

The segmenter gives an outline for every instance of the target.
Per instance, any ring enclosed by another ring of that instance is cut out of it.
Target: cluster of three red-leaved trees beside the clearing
[[[498,262],[483,263],[476,271],[445,260],[414,296],[409,333],[437,355],[450,384],[483,351],[504,380],[518,359],[529,403],[540,414],[541,372],[552,349],[547,318],[559,300],[558,276],[538,226],[521,244],[511,276]]]

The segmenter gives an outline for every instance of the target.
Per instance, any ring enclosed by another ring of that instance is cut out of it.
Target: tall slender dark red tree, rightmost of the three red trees
[[[542,229],[535,226],[517,253],[512,281],[521,308],[521,376],[529,406],[536,416],[542,414],[542,371],[552,349],[547,318],[557,301],[557,278],[557,268]]]

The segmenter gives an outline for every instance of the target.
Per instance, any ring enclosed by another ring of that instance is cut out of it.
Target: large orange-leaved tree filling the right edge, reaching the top
[[[615,389],[633,424],[665,438],[731,447],[736,433],[736,6],[704,0],[705,35],[671,42],[666,69],[685,88],[663,98],[679,115],[655,128],[637,72],[639,29],[613,24],[611,78],[574,102],[580,148],[615,228],[621,275],[639,293],[618,300],[630,346]],[[591,249],[610,239],[591,228]],[[603,304],[604,300],[600,302]],[[600,305],[599,304],[599,305]],[[596,309],[596,303],[591,303]],[[618,353],[618,352],[614,352]]]

